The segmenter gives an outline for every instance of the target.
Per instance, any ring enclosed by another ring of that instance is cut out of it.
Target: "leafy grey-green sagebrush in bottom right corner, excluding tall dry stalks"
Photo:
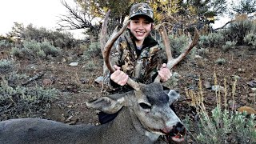
[[[189,117],[184,121],[188,129],[194,129],[195,143],[222,144],[256,142],[254,114],[247,118],[246,113],[221,110],[216,107],[210,114],[199,113],[199,122],[191,122]]]

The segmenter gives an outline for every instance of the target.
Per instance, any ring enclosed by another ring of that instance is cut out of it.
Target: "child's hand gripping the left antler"
[[[128,75],[120,70],[119,66],[114,65],[114,73],[110,74],[110,79],[120,86],[124,86],[127,83]]]

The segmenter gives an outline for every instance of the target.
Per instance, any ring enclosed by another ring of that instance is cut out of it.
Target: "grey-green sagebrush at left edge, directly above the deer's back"
[[[0,121],[10,118],[42,117],[57,98],[58,90],[42,87],[9,86],[5,78],[0,83]]]

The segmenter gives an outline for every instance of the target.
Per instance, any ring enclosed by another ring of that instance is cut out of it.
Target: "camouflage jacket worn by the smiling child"
[[[154,82],[158,69],[162,66],[162,49],[154,38],[148,36],[143,42],[142,49],[138,50],[133,39],[130,30],[126,30],[115,43],[115,50],[111,50],[110,62],[121,67],[121,70],[136,82]],[[106,74],[104,78],[104,87],[108,91],[130,89],[129,86],[118,86],[110,80],[110,74]]]

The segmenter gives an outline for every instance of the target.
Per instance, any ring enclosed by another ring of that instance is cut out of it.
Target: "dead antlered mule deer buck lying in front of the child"
[[[110,49],[128,22],[106,43],[104,60],[110,71],[114,71],[109,61]],[[106,29],[106,25],[102,29]],[[186,50],[178,58],[172,58],[165,29],[162,30],[162,37],[170,69],[198,42],[198,33],[195,33],[193,42]],[[175,142],[182,142],[186,134],[185,127],[170,109],[170,105],[179,97],[178,92],[163,90],[159,76],[149,85],[134,82],[131,78],[127,83],[134,88],[133,91],[96,98],[86,103],[91,108],[110,114],[120,110],[112,122],[100,126],[70,126],[40,118],[11,119],[0,122],[0,143],[154,143],[160,135],[169,135]]]

